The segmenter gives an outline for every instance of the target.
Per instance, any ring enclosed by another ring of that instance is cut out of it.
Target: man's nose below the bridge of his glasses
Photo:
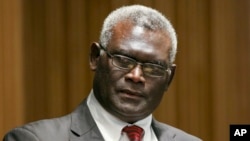
[[[125,76],[127,80],[132,80],[136,83],[145,83],[145,78],[143,76],[142,66],[137,65],[130,72],[128,72]]]

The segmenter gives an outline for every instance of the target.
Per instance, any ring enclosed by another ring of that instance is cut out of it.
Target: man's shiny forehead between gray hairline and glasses
[[[171,40],[168,33],[123,21],[113,28],[111,50],[123,50],[136,57],[168,61]]]

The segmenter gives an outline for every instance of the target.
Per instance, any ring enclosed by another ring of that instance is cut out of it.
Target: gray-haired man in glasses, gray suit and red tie
[[[199,141],[152,117],[174,76],[176,49],[172,25],[156,10],[115,10],[91,46],[95,76],[87,99],[67,116],[12,130],[4,141]]]

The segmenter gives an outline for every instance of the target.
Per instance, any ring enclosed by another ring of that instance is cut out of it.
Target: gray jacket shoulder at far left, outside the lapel
[[[67,138],[68,132],[70,131],[70,119],[70,115],[66,115],[59,118],[31,122],[12,129],[6,134],[4,141],[36,141],[41,138],[42,140],[59,141],[62,138]]]

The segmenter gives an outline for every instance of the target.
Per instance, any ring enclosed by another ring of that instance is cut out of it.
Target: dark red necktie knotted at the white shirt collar
[[[142,141],[144,130],[136,125],[126,126],[122,129],[123,132],[127,133],[130,141]]]

